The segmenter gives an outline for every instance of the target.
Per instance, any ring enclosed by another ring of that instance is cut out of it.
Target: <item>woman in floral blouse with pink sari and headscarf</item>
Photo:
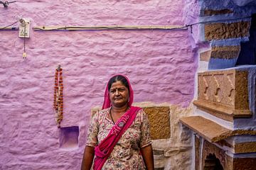
[[[149,120],[132,106],[129,79],[115,75],[108,81],[102,110],[92,116],[82,170],[154,169]]]

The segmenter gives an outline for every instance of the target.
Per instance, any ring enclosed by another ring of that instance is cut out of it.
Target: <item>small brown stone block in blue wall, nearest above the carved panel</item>
[[[236,46],[214,46],[210,57],[219,59],[237,58],[240,52],[240,45]]]

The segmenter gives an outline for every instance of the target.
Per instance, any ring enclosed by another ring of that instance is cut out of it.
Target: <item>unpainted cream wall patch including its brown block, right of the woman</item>
[[[191,106],[167,103],[137,103],[148,115],[155,169],[191,169],[191,131],[179,123],[179,118],[193,112]]]

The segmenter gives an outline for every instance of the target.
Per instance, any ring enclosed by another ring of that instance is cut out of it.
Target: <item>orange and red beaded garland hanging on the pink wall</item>
[[[60,65],[55,71],[55,86],[53,96],[53,109],[55,112],[55,120],[58,128],[60,128],[60,122],[63,120],[63,75]]]

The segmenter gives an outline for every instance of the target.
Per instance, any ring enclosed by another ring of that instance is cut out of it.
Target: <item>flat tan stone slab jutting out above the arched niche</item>
[[[183,125],[197,132],[198,135],[202,136],[209,142],[218,142],[230,137],[232,130],[224,128],[211,120],[203,118],[201,116],[190,116],[180,119]]]

